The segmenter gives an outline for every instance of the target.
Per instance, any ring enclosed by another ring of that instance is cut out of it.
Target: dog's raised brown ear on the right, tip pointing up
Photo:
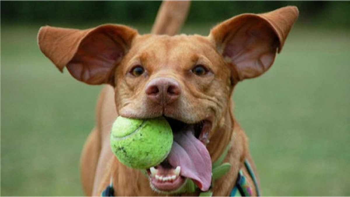
[[[261,75],[282,50],[287,35],[298,17],[295,6],[264,14],[241,14],[211,29],[209,38],[238,80]]]

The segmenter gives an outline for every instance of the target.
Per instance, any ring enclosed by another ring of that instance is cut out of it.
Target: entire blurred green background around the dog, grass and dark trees
[[[122,23],[147,33],[159,1],[1,1],[1,196],[82,196],[79,157],[102,86],[60,73],[40,26]],[[237,85],[235,114],[265,196],[350,196],[350,2],[195,1],[182,33],[296,5],[274,66]]]

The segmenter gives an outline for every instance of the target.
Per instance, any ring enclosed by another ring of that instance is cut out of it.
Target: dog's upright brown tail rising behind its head
[[[189,1],[163,1],[156,16],[152,34],[175,35],[186,20]]]

